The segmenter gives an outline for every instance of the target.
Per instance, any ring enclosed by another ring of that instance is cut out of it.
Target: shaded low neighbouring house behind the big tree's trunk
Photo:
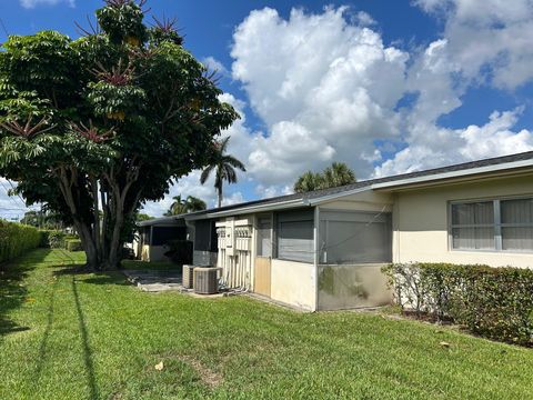
[[[168,260],[169,240],[185,240],[187,226],[182,218],[162,217],[138,223],[133,252],[142,261]]]

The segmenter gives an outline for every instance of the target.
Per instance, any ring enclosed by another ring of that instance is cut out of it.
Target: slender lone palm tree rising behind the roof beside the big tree
[[[210,164],[202,171],[200,182],[202,184],[209,179],[212,171],[214,172],[214,188],[217,189],[217,196],[219,198],[219,208],[222,206],[222,186],[224,180],[228,183],[237,182],[237,169],[245,172],[244,164],[231,154],[227,154],[228,142],[230,137],[214,142],[214,151]]]

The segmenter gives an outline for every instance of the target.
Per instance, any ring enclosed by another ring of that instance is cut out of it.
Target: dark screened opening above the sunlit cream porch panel
[[[276,218],[278,258],[314,262],[313,210],[282,212]]]

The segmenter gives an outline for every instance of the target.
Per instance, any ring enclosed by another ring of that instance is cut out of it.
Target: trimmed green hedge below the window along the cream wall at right
[[[402,309],[450,319],[486,338],[533,344],[533,270],[409,263],[383,271]]]

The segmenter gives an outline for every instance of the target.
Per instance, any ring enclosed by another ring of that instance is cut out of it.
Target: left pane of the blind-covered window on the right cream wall
[[[452,204],[452,248],[495,249],[494,224],[493,201]]]

